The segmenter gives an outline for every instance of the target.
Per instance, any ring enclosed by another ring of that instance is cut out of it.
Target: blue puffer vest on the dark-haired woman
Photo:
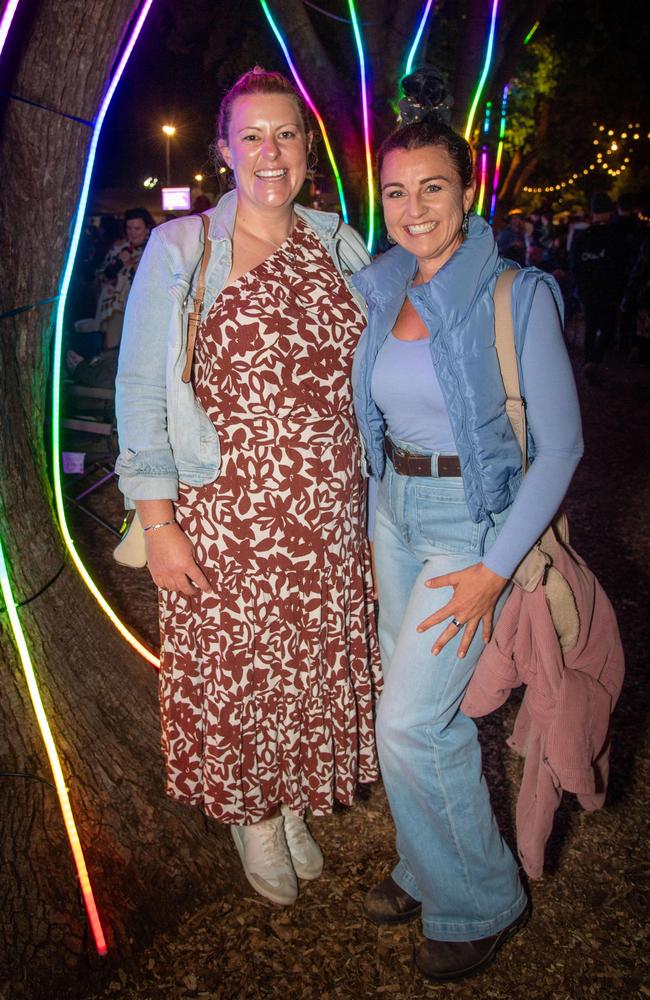
[[[521,482],[521,452],[505,412],[505,391],[494,346],[493,292],[497,275],[511,261],[499,257],[484,219],[470,218],[467,239],[426,284],[411,287],[415,257],[393,247],[359,271],[352,283],[368,303],[368,326],[352,370],[354,405],[370,471],[384,471],[385,424],[370,386],[377,354],[408,295],[429,331],[431,357],[447,405],[460,458],[465,499],[473,521],[505,510]],[[530,307],[539,281],[551,289],[562,316],[555,280],[537,268],[523,268],[512,290],[517,357],[521,358]],[[522,395],[525,385],[519,370]],[[529,435],[529,457],[535,442]]]

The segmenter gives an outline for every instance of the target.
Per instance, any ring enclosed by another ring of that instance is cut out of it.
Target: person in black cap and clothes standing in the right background
[[[584,372],[600,381],[600,365],[614,345],[618,306],[625,282],[625,253],[612,223],[614,206],[603,192],[591,199],[591,225],[575,234],[571,269],[585,317]]]

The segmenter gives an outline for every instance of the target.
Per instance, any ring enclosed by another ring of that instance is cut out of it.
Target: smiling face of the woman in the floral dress
[[[295,200],[307,171],[311,137],[296,102],[284,94],[247,94],[232,106],[222,156],[235,175],[240,199],[277,209]]]

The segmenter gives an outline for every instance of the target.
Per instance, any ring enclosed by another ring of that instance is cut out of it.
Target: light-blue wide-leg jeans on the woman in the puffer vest
[[[426,937],[476,940],[507,927],[527,903],[492,812],[476,726],[459,708],[483,640],[479,628],[464,659],[459,638],[433,656],[449,622],[423,633],[416,626],[452,594],[425,581],[479,562],[502,519],[487,532],[474,524],[460,478],[400,476],[386,466],[374,542],[385,678],[377,742],[399,855],[392,877],[421,900]]]

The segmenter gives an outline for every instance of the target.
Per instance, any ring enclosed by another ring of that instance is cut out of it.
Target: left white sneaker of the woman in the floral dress
[[[289,906],[298,896],[296,873],[284,834],[282,816],[252,826],[231,826],[246,878],[260,896]]]

